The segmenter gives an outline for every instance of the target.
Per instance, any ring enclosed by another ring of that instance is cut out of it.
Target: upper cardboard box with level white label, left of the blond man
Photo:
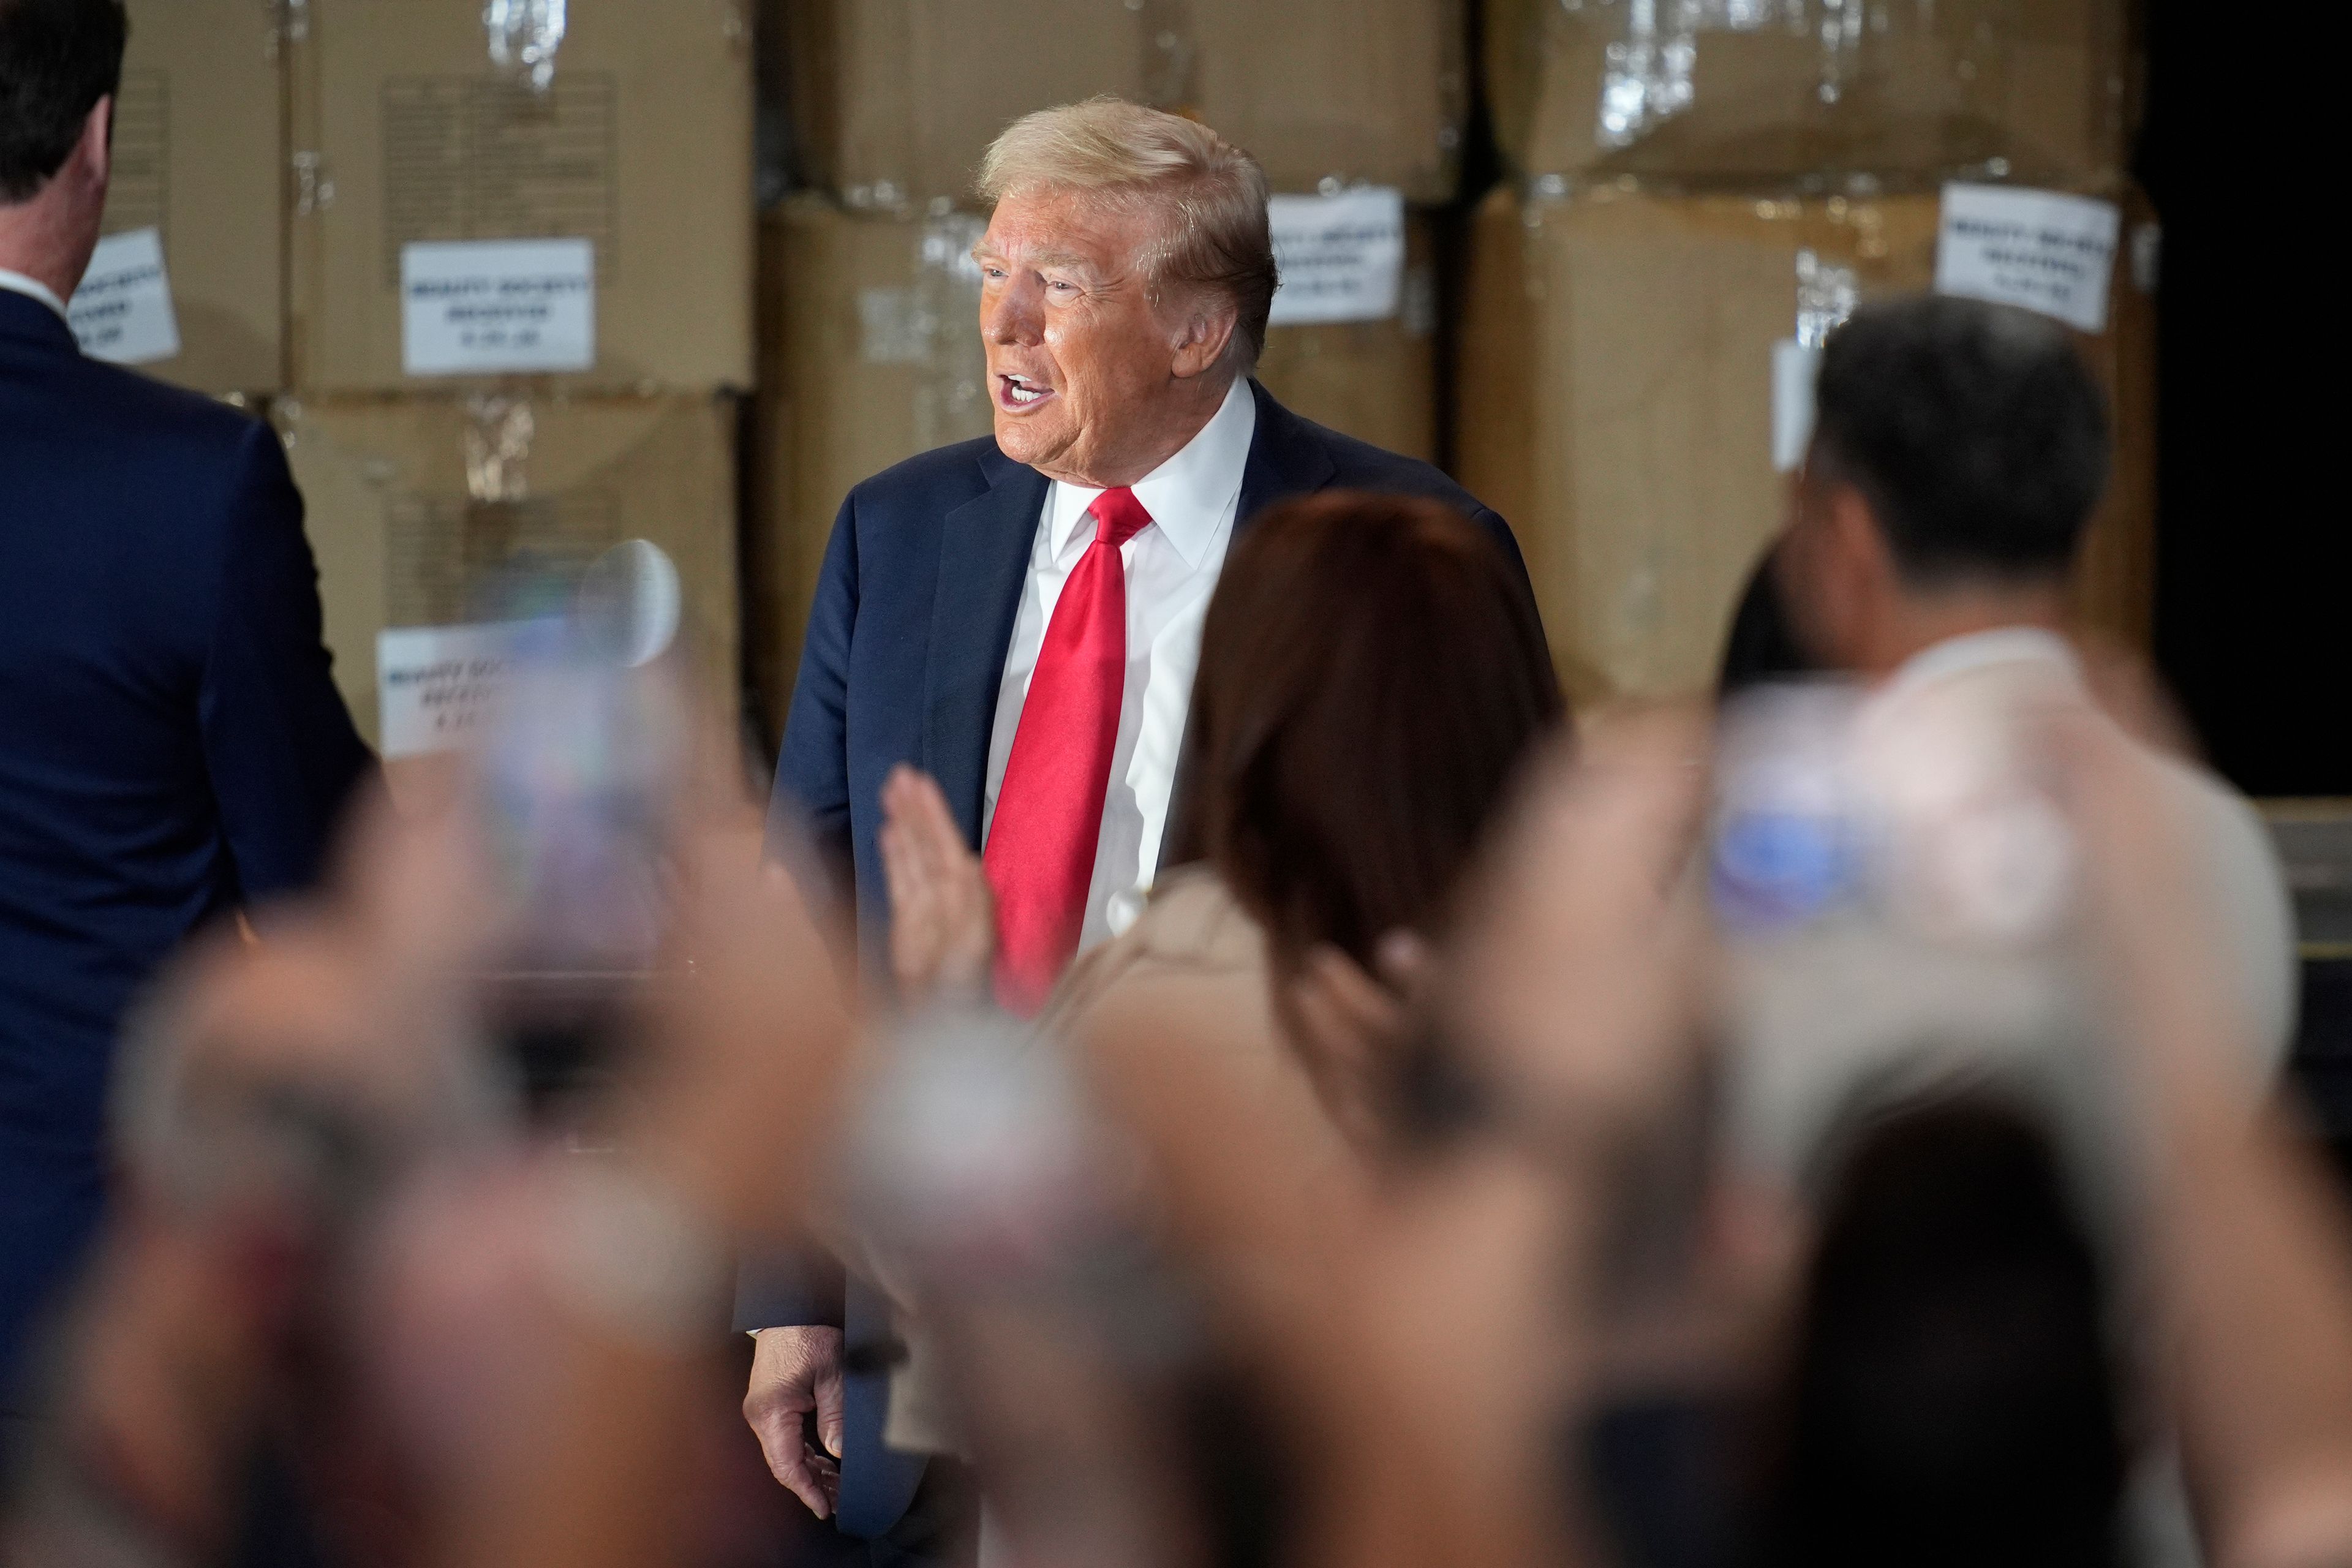
[[[294,136],[301,390],[452,390],[402,369],[402,244],[546,237],[595,247],[595,369],[560,386],[750,383],[746,0],[574,5],[546,92],[492,66],[480,0],[313,0]]]

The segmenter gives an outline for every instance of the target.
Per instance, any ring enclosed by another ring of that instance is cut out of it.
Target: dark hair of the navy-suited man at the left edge
[[[0,0],[0,202],[33,200],[122,85],[122,0]]]

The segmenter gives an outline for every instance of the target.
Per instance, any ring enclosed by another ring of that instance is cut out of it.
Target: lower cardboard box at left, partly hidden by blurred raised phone
[[[731,397],[280,400],[275,421],[308,505],[334,679],[369,741],[376,632],[480,618],[499,571],[562,576],[623,538],[677,564],[682,637],[731,719]]]

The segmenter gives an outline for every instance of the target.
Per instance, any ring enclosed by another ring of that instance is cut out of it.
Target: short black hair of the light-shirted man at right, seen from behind
[[[1910,588],[2056,578],[2107,484],[2107,407],[2042,315],[1884,301],[1830,336],[1811,468],[1863,494]]]

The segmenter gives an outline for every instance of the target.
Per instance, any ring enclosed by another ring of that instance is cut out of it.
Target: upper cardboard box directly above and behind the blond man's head
[[[971,197],[1021,115],[1117,94],[1214,125],[1277,190],[1454,195],[1465,0],[809,0],[788,7],[802,174],[851,207]]]

